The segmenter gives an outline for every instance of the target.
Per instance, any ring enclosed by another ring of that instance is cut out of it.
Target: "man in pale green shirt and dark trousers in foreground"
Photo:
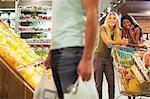
[[[53,1],[52,46],[45,66],[51,66],[60,99],[78,75],[89,80],[98,25],[98,0]]]

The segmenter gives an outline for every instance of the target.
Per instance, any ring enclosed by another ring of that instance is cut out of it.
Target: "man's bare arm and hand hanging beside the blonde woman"
[[[91,78],[92,57],[95,48],[98,25],[98,0],[83,0],[86,10],[85,46],[82,59],[78,65],[78,74],[84,80]]]

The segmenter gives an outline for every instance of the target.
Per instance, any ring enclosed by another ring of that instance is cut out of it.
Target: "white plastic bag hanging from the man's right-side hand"
[[[77,82],[78,85],[75,84],[70,93],[64,94],[64,99],[99,99],[94,77],[89,81],[83,81],[79,76]]]

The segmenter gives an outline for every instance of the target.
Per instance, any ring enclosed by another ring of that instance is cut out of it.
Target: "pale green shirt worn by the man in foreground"
[[[54,0],[52,50],[84,46],[86,12],[83,0]]]

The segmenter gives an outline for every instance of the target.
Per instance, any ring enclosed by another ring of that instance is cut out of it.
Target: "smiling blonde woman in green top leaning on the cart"
[[[112,45],[125,45],[127,41],[121,39],[119,19],[115,12],[110,12],[104,24],[100,27],[99,43],[94,55],[94,75],[99,98],[102,99],[103,73],[108,81],[109,99],[114,99],[114,69],[111,57]]]

